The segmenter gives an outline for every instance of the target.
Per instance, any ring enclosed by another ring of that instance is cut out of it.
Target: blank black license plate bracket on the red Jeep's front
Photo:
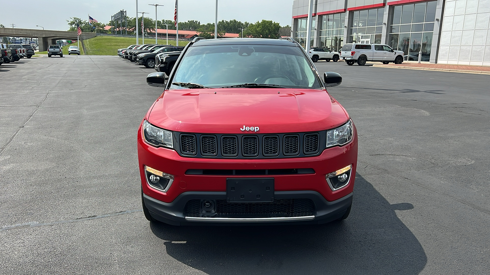
[[[273,202],[274,178],[226,179],[226,201],[232,203]]]

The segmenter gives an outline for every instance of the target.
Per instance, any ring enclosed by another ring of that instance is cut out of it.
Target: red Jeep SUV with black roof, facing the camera
[[[167,77],[168,75],[168,77]],[[354,123],[287,39],[196,38],[138,130],[142,203],[172,225],[321,224],[347,218]]]

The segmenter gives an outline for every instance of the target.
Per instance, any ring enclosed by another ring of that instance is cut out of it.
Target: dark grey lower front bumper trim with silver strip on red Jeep
[[[352,193],[329,202],[315,191],[275,191],[274,198],[310,199],[315,204],[315,211],[308,216],[271,217],[271,218],[204,218],[185,215],[184,208],[190,200],[223,200],[226,192],[184,192],[172,203],[165,203],[143,195],[145,206],[150,215],[161,222],[171,225],[278,225],[278,224],[323,224],[343,216],[352,204]]]

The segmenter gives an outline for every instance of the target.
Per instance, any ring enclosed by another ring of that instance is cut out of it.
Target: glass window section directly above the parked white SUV
[[[332,51],[339,51],[343,46],[345,13],[322,15],[319,20],[321,20],[322,29],[320,30],[318,46],[329,48]]]

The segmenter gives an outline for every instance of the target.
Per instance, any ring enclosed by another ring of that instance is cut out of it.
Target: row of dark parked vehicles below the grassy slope
[[[149,69],[157,69],[155,67],[155,63],[158,56],[166,53],[180,53],[183,49],[184,47],[172,45],[131,45],[127,48],[118,49],[118,55],[122,59],[127,59],[131,62],[135,62],[136,64],[144,65]]]

